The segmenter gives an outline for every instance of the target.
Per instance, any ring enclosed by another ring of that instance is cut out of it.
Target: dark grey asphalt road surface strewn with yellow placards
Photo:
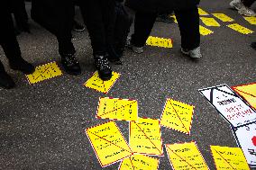
[[[208,13],[226,13],[256,31],[255,25],[229,9],[229,1],[205,0],[200,6]],[[255,10],[255,4],[252,8]],[[98,98],[105,96],[136,99],[139,116],[153,119],[160,119],[168,97],[195,105],[191,135],[161,128],[163,143],[195,140],[209,168],[215,169],[210,145],[236,147],[236,143],[229,124],[197,89],[256,82],[256,55],[250,47],[251,41],[256,40],[255,33],[242,35],[227,28],[227,23],[219,23],[219,28],[207,27],[215,32],[202,36],[203,58],[195,62],[179,52],[178,25],[157,22],[151,35],[171,38],[173,49],[147,46],[140,55],[127,49],[123,66],[113,66],[122,76],[109,94],[83,86],[95,71],[87,31],[74,32],[73,42],[83,69],[80,76],[64,73],[29,85],[23,74],[7,67],[0,49],[0,58],[17,85],[13,90],[0,89],[0,169],[102,169],[84,130],[107,121],[95,118]],[[18,37],[23,58],[36,66],[50,61],[59,63],[57,40],[35,22],[31,21],[31,27],[32,34]],[[128,122],[115,122],[128,140]],[[166,151],[164,154],[159,169],[171,169]],[[116,163],[104,169],[118,166]]]

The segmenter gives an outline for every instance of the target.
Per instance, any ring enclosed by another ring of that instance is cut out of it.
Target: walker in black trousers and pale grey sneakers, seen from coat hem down
[[[201,58],[197,4],[199,0],[127,0],[126,5],[136,12],[134,33],[127,45],[134,52],[142,53],[158,13],[173,10],[181,35],[181,52],[190,58]]]

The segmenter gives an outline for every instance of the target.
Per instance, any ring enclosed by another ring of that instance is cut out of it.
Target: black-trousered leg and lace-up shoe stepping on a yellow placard
[[[112,70],[107,60],[105,33],[105,24],[107,21],[105,21],[103,8],[105,7],[105,10],[111,9],[107,9],[103,1],[104,0],[81,1],[80,9],[87,26],[87,31],[89,32],[96,69],[101,79],[108,80],[112,76]]]

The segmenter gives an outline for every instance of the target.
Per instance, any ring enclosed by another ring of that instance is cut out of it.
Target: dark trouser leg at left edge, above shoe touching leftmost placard
[[[10,62],[15,62],[17,58],[21,58],[21,49],[14,33],[14,22],[11,13],[3,13],[0,16],[1,31],[0,44],[4,49],[5,56]]]

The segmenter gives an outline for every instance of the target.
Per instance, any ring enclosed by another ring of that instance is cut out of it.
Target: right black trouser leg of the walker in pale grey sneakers
[[[175,12],[183,49],[196,49],[200,46],[199,14],[197,6]]]

